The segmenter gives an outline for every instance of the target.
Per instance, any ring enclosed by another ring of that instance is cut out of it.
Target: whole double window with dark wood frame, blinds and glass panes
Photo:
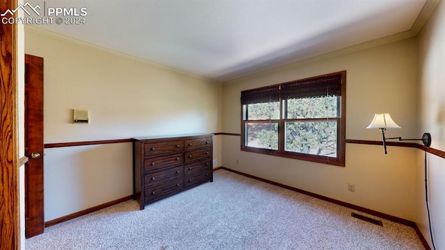
[[[344,166],[346,71],[241,92],[241,150]]]

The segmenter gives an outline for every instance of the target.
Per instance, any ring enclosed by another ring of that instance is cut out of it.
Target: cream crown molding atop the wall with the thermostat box
[[[152,62],[150,60],[146,60],[146,59],[140,58],[138,56],[131,55],[129,53],[123,53],[121,51],[117,51],[115,49],[110,49],[108,47],[104,47],[104,46],[99,45],[99,44],[88,42],[86,40],[81,40],[79,38],[74,38],[74,37],[72,37],[70,35],[64,35],[62,33],[58,33],[58,32],[55,32],[55,31],[50,31],[50,30],[48,30],[46,28],[41,28],[41,27],[38,27],[36,25],[25,24],[24,27],[25,27],[24,28],[25,33],[31,32],[31,33],[36,33],[38,35],[44,35],[46,37],[54,38],[54,39],[60,40],[62,42],[69,42],[71,44],[76,44],[76,45],[79,45],[81,47],[85,47],[87,49],[92,49],[92,50],[95,50],[95,51],[102,51],[104,53],[108,53],[108,54],[111,54],[113,56],[118,56],[120,58],[131,60],[131,61],[136,62],[136,63],[141,63],[143,65],[148,65],[148,66],[151,66],[151,67],[156,67],[158,69],[163,69],[163,70],[167,70],[167,71],[175,72],[175,73],[179,73],[179,74],[185,74],[187,76],[191,76],[192,78],[197,78],[197,79],[200,79],[202,81],[207,81],[207,82],[211,82],[211,83],[220,83],[220,82],[215,81],[215,80],[213,80],[211,78],[206,78],[206,77],[203,77],[203,76],[197,76],[197,75],[189,73],[189,72],[184,72],[181,69],[176,69],[174,67],[168,67],[168,66],[165,66],[165,65],[161,65],[159,63],[154,63],[154,62]],[[26,35],[25,35],[25,39],[26,39]]]

